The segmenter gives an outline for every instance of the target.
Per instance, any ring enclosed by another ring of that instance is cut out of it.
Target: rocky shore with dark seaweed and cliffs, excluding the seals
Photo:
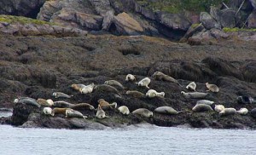
[[[255,1],[219,1],[206,9],[183,5],[184,10],[180,4],[150,0],[8,2],[1,2],[0,9],[0,107],[11,109],[13,115],[0,118],[1,123],[54,129],[122,128],[144,122],[255,128]],[[154,78],[154,72],[176,81]],[[136,80],[126,81],[127,74]],[[165,95],[148,97],[148,88],[137,84],[143,78],[150,79],[149,89]],[[123,88],[95,89],[108,80],[118,81]],[[181,92],[194,92],[186,88],[191,82],[196,83],[196,92],[207,96],[184,96]],[[72,88],[73,83],[96,87],[83,94]],[[217,85],[218,92],[207,91],[206,83]],[[143,95],[127,95],[128,90]],[[54,92],[71,97],[55,98]],[[96,118],[96,110],[90,109],[79,110],[85,119],[66,118],[45,115],[44,106],[14,103],[20,97],[88,103],[94,108],[104,99],[117,107],[105,110],[109,118]],[[192,110],[198,100],[214,102],[212,111]],[[248,112],[222,115],[214,111],[215,105]],[[127,106],[130,114],[121,114],[119,106]],[[160,106],[171,106],[177,114],[155,112]],[[148,109],[153,116],[132,113],[138,108]]]

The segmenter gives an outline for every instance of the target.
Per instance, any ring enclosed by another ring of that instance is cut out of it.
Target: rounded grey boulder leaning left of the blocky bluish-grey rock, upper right
[[[216,20],[212,18],[210,14],[207,12],[201,12],[200,14],[200,21],[207,28],[207,30],[210,30],[212,28],[218,28],[218,23]]]

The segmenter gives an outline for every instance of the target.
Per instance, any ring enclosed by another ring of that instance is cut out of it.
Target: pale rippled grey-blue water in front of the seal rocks
[[[0,116],[9,114],[1,114]],[[22,129],[0,125],[1,155],[256,154],[256,130],[165,128]]]

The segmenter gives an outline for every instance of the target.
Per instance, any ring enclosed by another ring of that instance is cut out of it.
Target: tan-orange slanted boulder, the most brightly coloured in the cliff
[[[126,13],[114,16],[113,24],[119,34],[132,36],[143,32],[143,27],[137,22],[137,20],[134,20],[129,14]]]

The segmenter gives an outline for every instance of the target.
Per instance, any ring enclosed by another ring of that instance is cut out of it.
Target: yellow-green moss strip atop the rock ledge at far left
[[[20,23],[20,24],[37,24],[37,25],[56,25],[52,22],[47,22],[44,20],[34,20],[31,18],[21,17],[21,16],[14,16],[14,15],[0,15],[0,21],[1,22],[7,22],[7,23]]]

